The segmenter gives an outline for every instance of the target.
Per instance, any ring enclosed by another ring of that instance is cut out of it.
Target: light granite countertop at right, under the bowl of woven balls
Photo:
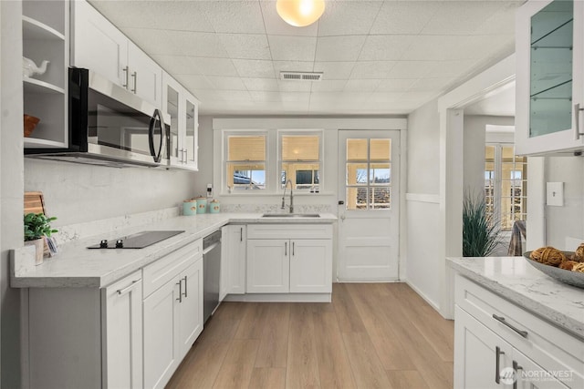
[[[584,338],[584,289],[558,282],[523,257],[448,258],[451,268]]]

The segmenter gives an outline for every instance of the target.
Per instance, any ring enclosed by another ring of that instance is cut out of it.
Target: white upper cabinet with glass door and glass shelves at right
[[[529,1],[516,20],[516,153],[584,150],[584,2]]]

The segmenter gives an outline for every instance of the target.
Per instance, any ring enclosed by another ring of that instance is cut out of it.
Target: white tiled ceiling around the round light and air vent
[[[330,1],[288,26],[276,2],[90,3],[177,78],[202,114],[406,114],[513,53],[522,1]],[[281,71],[323,72],[321,81]]]

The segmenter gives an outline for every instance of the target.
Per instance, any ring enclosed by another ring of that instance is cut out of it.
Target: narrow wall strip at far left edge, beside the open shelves
[[[3,388],[20,387],[20,290],[9,287],[9,250],[23,245],[22,4],[0,1],[0,355]]]

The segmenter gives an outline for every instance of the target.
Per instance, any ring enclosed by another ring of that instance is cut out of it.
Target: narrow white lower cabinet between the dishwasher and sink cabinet
[[[219,301],[227,294],[245,293],[247,227],[228,224],[221,229],[221,286]]]

